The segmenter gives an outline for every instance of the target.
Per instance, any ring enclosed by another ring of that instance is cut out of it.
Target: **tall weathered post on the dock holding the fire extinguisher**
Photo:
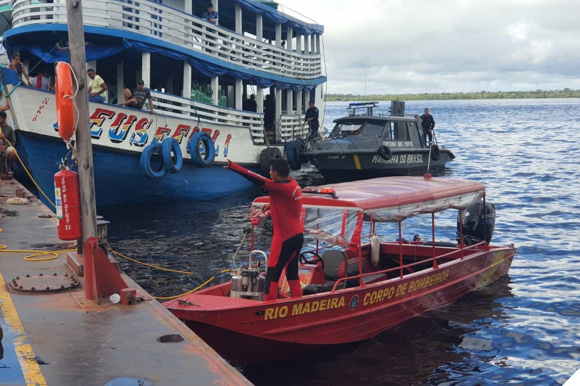
[[[95,200],[95,178],[93,175],[93,150],[90,142],[89,99],[86,93],[85,34],[82,21],[82,1],[67,0],[68,45],[73,72],[78,79],[78,93],[74,98],[78,109],[78,124],[75,146],[77,148],[78,180],[81,198],[82,242],[97,238],[97,213]],[[85,297],[97,300],[94,264],[85,260]]]

